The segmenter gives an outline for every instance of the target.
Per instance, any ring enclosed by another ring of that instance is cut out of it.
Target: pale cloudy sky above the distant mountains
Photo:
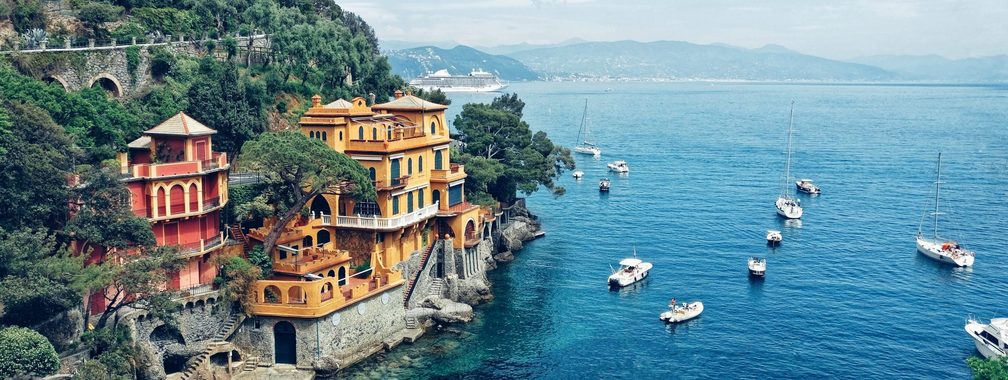
[[[354,0],[381,40],[779,44],[836,59],[1008,54],[1008,0]],[[448,46],[451,47],[451,46]]]

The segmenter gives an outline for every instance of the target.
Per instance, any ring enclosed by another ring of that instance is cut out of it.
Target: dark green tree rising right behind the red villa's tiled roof
[[[205,57],[200,60],[204,78],[188,91],[186,113],[217,130],[214,146],[235,157],[242,144],[266,129],[263,122],[261,92],[248,91],[233,62],[220,64]]]

